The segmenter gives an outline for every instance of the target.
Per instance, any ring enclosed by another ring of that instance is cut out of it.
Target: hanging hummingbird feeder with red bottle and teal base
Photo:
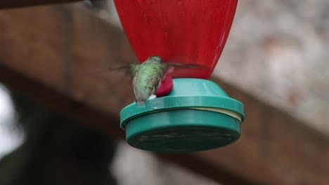
[[[236,5],[237,0],[115,0],[140,62],[158,55],[164,62],[202,66],[174,69],[157,92],[165,96],[148,100],[144,107],[133,103],[122,109],[120,126],[131,146],[180,153],[215,149],[240,137],[243,104],[208,80]]]

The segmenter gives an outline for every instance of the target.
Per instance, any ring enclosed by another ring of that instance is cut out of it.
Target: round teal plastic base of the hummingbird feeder
[[[176,78],[172,93],[130,104],[121,111],[120,126],[128,144],[138,149],[183,153],[219,148],[240,137],[243,104],[212,81]]]

